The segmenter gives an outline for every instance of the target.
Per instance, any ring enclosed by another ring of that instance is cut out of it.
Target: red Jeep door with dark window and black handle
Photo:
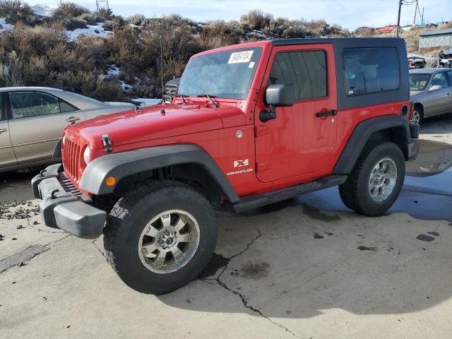
[[[323,169],[335,148],[338,124],[332,44],[275,47],[270,65],[263,92],[270,84],[292,83],[295,102],[277,107],[276,118],[266,122],[259,112],[268,107],[263,100],[256,107],[256,172],[261,182]]]

